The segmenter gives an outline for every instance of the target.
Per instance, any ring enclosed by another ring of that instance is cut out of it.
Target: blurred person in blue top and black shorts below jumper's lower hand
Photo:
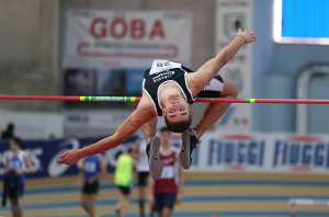
[[[91,145],[92,142],[89,142]],[[95,199],[99,191],[100,179],[106,174],[106,167],[103,157],[98,153],[88,156],[82,161],[77,186],[80,187],[83,181],[81,206],[90,217],[97,217]]]

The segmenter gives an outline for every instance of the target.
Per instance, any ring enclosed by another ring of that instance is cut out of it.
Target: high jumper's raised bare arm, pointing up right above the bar
[[[241,48],[243,44],[253,43],[257,37],[252,32],[240,28],[236,38],[224,47],[215,58],[204,64],[195,73],[188,73],[189,87],[193,95],[196,95],[218,73],[222,67],[224,67]]]

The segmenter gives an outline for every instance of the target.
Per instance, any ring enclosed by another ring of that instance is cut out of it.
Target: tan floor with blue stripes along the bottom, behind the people
[[[173,217],[288,217],[290,198],[329,198],[329,174],[185,173],[182,204]],[[2,183],[1,183],[2,184]],[[2,186],[1,186],[2,190]],[[25,217],[84,217],[76,176],[29,179],[24,196]],[[100,217],[113,217],[118,191],[113,175],[104,178],[98,196]],[[148,207],[147,207],[148,209]],[[10,207],[0,216],[11,216]],[[127,217],[138,217],[137,189],[133,190]],[[148,217],[148,215],[146,215]],[[296,217],[328,217],[324,205],[296,206]]]

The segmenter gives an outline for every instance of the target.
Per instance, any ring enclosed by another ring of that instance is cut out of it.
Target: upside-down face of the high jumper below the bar
[[[162,116],[167,116],[170,122],[189,119],[191,107],[182,98],[172,98],[162,106]]]

